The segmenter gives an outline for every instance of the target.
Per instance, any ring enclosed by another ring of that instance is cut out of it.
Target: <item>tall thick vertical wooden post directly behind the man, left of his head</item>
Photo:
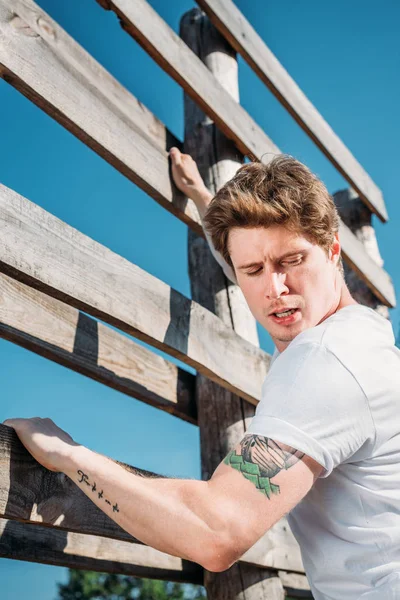
[[[199,10],[181,20],[181,37],[238,100],[236,53]],[[211,192],[219,189],[241,165],[243,156],[185,95],[185,151],[197,161]],[[242,337],[258,344],[254,318],[240,289],[228,283],[206,242],[189,231],[192,298],[215,312]],[[197,375],[196,399],[201,438],[202,476],[208,479],[246,431],[254,407]],[[283,600],[276,572],[238,563],[224,573],[206,573],[209,600]]]

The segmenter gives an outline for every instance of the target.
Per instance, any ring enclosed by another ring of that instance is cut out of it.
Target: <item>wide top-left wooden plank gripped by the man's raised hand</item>
[[[0,77],[201,233],[169,175],[178,140],[31,0],[0,0]]]

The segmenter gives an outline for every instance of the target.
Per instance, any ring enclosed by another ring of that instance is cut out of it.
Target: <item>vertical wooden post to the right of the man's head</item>
[[[372,213],[358,197],[352,188],[340,190],[333,194],[333,198],[343,222],[351,229],[354,235],[363,244],[365,251],[380,266],[383,260],[379,252],[375,230],[372,225]],[[357,275],[351,267],[344,264],[346,283],[351,295],[357,302],[376,310],[386,319],[389,318],[389,309],[375,296],[367,284]]]

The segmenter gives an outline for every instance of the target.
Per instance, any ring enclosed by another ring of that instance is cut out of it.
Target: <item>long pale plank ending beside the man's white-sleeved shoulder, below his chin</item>
[[[270,357],[167,284],[0,186],[0,272],[183,360],[253,404]]]

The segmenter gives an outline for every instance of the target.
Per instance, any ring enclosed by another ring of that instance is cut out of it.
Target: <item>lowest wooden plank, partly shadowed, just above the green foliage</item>
[[[149,546],[0,519],[0,557],[203,584],[203,569]]]

